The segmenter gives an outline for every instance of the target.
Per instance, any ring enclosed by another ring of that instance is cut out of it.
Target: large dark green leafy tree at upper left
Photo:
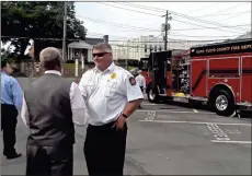
[[[30,38],[62,38],[62,1],[5,1],[1,12],[1,40],[11,40],[21,58]],[[85,34],[83,22],[76,17],[75,2],[67,2],[67,38],[84,39]]]

